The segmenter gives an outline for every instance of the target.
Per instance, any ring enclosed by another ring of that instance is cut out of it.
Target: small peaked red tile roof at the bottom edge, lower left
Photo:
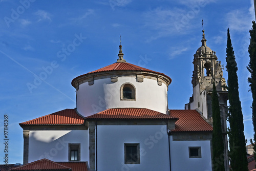
[[[71,167],[67,167],[48,159],[37,160],[23,166],[14,167],[11,170],[71,170]]]

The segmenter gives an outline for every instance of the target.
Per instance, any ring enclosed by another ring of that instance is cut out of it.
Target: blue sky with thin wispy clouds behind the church
[[[75,108],[72,79],[114,63],[119,34],[124,59],[172,78],[169,109],[184,109],[193,93],[192,62],[201,46],[202,18],[207,46],[224,65],[230,29],[249,140],[252,98],[246,66],[253,10],[252,0],[0,0],[0,129],[7,114],[9,164],[23,162],[23,130],[18,123]],[[227,80],[226,69],[223,73]],[[2,158],[4,146],[0,147]]]

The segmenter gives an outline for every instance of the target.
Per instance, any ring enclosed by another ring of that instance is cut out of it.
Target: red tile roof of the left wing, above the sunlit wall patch
[[[76,113],[75,109],[65,109],[50,115],[19,123],[19,125],[80,125],[83,124],[83,122],[84,119]]]

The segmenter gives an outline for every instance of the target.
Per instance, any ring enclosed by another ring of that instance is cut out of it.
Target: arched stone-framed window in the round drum
[[[120,100],[136,100],[136,90],[133,84],[122,84],[120,88]]]

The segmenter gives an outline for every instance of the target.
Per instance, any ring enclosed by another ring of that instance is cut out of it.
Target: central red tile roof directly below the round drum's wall
[[[86,119],[178,119],[163,113],[144,108],[107,109]]]

